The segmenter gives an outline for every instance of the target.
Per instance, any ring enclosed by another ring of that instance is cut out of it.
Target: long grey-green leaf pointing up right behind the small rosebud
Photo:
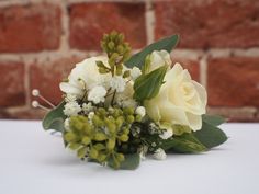
[[[146,48],[144,48],[142,52],[133,55],[125,62],[125,65],[130,68],[138,67],[139,69],[142,69],[142,66],[145,64],[145,58],[147,55],[151,54],[154,50],[161,50],[161,49],[165,49],[168,53],[170,53],[176,47],[178,39],[179,39],[178,35],[172,35],[170,37],[166,37],[156,43],[153,43]]]

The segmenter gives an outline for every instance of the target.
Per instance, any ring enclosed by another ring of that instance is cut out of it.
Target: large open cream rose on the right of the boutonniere
[[[158,123],[201,129],[201,115],[205,114],[207,102],[204,87],[191,80],[190,73],[180,64],[166,73],[165,81],[158,95],[144,103],[149,117]]]

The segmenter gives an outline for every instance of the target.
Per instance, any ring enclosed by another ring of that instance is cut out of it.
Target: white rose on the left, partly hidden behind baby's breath
[[[68,82],[61,82],[59,84],[60,90],[80,99],[86,90],[106,82],[106,79],[110,79],[111,75],[99,73],[97,61],[102,61],[104,65],[108,65],[108,58],[104,56],[85,59],[77,64],[71,70],[68,77]]]

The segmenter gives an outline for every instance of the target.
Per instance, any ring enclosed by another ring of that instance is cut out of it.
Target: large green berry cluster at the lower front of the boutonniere
[[[99,163],[120,168],[124,155],[117,147],[128,141],[131,127],[142,117],[133,107],[98,107],[94,114],[70,117],[69,130],[64,134],[67,146],[77,151],[80,159],[88,157]]]

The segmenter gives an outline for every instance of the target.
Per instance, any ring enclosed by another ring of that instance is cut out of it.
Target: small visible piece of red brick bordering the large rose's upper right
[[[200,65],[198,60],[190,60],[184,58],[172,58],[172,64],[181,64],[184,69],[188,69],[193,80],[200,82]]]

